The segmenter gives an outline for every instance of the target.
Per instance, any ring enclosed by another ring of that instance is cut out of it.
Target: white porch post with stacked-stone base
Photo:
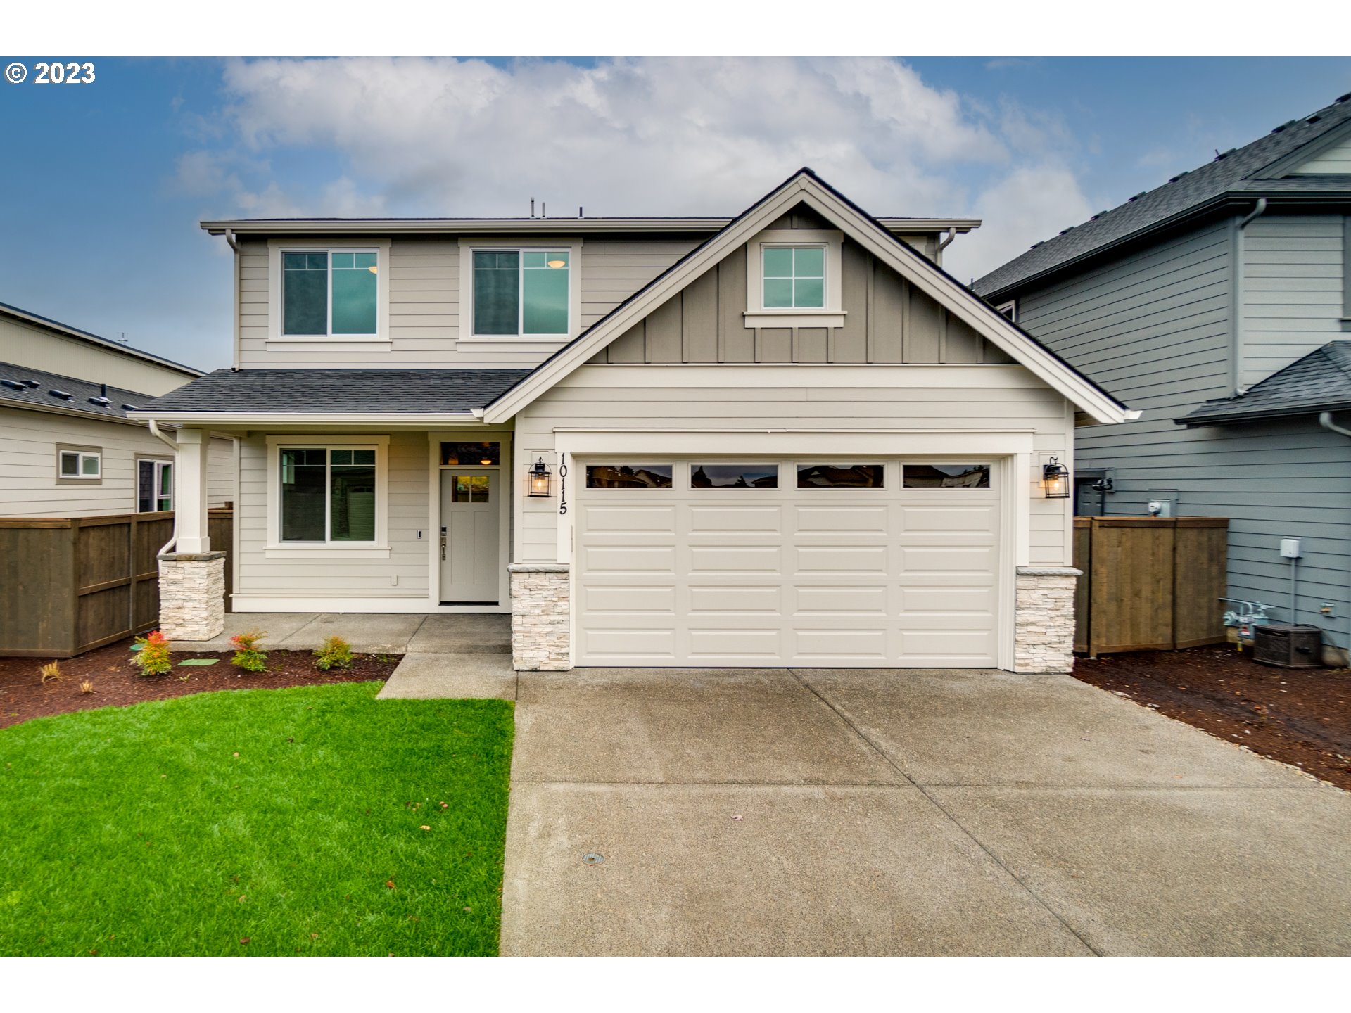
[[[226,628],[226,554],[207,534],[205,430],[180,430],[174,461],[173,552],[159,556],[159,631],[170,640],[209,640]]]

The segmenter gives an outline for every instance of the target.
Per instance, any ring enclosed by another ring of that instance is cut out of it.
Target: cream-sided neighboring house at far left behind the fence
[[[0,517],[173,509],[174,450],[127,412],[201,370],[0,304]],[[234,497],[234,440],[209,442],[208,504]]]

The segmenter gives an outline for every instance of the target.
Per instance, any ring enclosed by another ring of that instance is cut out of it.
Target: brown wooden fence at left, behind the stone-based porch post
[[[234,512],[211,511],[209,524],[227,550],[228,609]],[[0,656],[73,658],[154,628],[155,552],[172,532],[172,512],[0,517]]]

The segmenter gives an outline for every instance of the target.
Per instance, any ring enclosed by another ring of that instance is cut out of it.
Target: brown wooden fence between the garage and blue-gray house
[[[1075,517],[1074,650],[1177,650],[1221,643],[1227,517]]]

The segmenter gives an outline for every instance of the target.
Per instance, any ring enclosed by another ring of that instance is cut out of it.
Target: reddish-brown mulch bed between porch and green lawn
[[[266,647],[266,644],[265,644]],[[31,717],[127,706],[145,700],[166,700],[218,689],[281,689],[326,682],[384,682],[399,665],[399,655],[354,654],[350,669],[319,671],[309,651],[267,651],[267,671],[240,671],[230,663],[232,651],[173,654],[174,667],[163,675],[141,675],[132,665],[131,640],[123,640],[78,658],[59,660],[61,678],[42,685],[39,669],[50,658],[0,658],[0,728]],[[218,659],[209,666],[180,666],[188,659]],[[82,693],[80,683],[92,682]]]

